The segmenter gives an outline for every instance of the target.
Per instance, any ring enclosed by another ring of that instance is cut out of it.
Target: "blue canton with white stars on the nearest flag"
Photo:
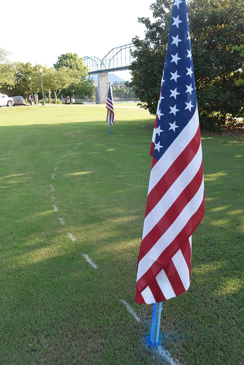
[[[165,57],[153,157],[159,160],[197,108],[186,0],[175,0]]]

